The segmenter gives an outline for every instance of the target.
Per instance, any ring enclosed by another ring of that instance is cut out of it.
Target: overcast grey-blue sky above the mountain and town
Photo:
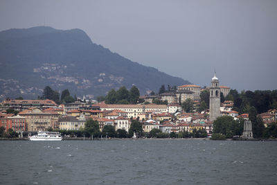
[[[80,28],[92,42],[195,85],[277,89],[277,1],[0,1],[0,30]]]

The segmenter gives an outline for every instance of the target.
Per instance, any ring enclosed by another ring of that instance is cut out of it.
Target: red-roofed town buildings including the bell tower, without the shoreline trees
[[[130,132],[130,127],[132,127],[132,121],[136,120],[141,123],[143,130],[141,136],[151,137],[153,136],[150,134],[151,131],[158,130],[160,133],[176,137],[180,133],[206,137],[213,133],[213,122],[219,116],[231,116],[238,122],[249,120],[249,113],[239,114],[233,110],[233,101],[224,100],[220,103],[220,98],[228,96],[230,90],[229,87],[220,86],[218,78],[214,77],[211,87],[181,85],[161,94],[140,96],[142,103],[137,104],[109,104],[105,101],[91,103],[84,99],[60,105],[48,99],[4,100],[0,105],[0,127],[4,132],[13,130],[18,133],[34,133],[64,130],[69,133],[69,131],[84,130],[86,122],[92,119],[99,124],[100,132],[103,132],[106,125],[111,125],[117,136],[120,134],[120,137],[132,137],[135,134]],[[210,107],[199,109],[202,104],[201,94],[207,91],[210,96]],[[166,103],[155,104],[157,100],[159,103]],[[188,111],[186,103],[190,101],[193,104],[189,106]],[[277,110],[269,109],[257,116],[267,127],[277,120]],[[123,135],[122,130],[125,133]]]

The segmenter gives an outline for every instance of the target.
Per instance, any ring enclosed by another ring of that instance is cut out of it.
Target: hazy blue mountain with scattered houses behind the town
[[[46,26],[0,32],[0,74],[0,99],[37,98],[46,85],[96,98],[123,85],[146,94],[163,84],[190,84],[112,53],[80,29]]]

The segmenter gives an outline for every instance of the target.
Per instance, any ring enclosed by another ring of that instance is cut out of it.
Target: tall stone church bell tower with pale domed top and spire
[[[210,121],[220,116],[220,81],[216,76],[212,78],[210,88]]]

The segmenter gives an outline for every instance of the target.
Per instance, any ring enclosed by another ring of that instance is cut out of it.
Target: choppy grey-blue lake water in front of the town
[[[0,141],[0,184],[277,184],[277,142]]]

